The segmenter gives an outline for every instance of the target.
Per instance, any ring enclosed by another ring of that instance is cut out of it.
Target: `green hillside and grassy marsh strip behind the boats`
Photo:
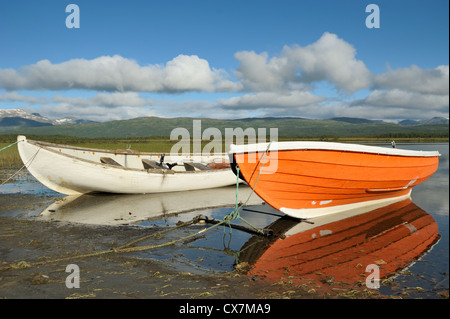
[[[401,126],[393,123],[372,121],[310,120],[302,118],[249,118],[240,120],[215,120],[194,118],[164,119],[141,117],[131,120],[105,123],[56,125],[45,127],[0,127],[0,148],[16,141],[18,134],[27,138],[59,144],[76,145],[100,149],[131,148],[141,152],[170,152],[181,139],[170,140],[175,128],[184,128],[193,137],[193,121],[201,120],[200,133],[207,128],[216,128],[225,139],[226,129],[254,129],[261,138],[259,128],[266,129],[266,140],[270,139],[270,128],[278,129],[278,140],[313,140],[352,143],[448,143],[448,124]],[[216,131],[217,132],[217,131]],[[3,134],[3,135],[1,135]],[[273,137],[273,136],[272,136]],[[208,138],[213,138],[208,136]],[[216,137],[218,138],[218,137]],[[209,140],[202,140],[202,149]],[[210,145],[211,146],[211,145]],[[225,145],[222,144],[222,151]],[[18,164],[19,163],[19,164]],[[20,165],[17,147],[0,152],[0,167]]]

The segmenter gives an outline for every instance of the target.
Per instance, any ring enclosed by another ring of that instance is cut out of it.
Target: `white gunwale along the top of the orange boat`
[[[374,155],[401,156],[401,157],[439,157],[438,151],[415,151],[398,148],[387,148],[372,145],[360,145],[336,142],[271,142],[243,145],[230,145],[229,154],[263,153],[278,151],[337,151],[350,153],[363,153]]]

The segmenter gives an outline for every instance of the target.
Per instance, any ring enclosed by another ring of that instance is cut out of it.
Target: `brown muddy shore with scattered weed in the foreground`
[[[19,200],[22,198],[22,200]],[[0,298],[131,298],[131,299],[322,299],[382,298],[376,291],[343,289],[320,292],[314,283],[269,282],[230,272],[202,271],[177,258],[152,260],[127,253],[107,253],[89,258],[80,255],[112,251],[147,236],[158,228],[133,226],[89,226],[42,221],[36,216],[18,217],[28,207],[45,207],[51,196],[0,195]],[[30,200],[32,198],[33,200]],[[178,231],[175,236],[184,234]],[[159,240],[165,240],[160,238]],[[172,247],[176,251],[177,245]],[[207,254],[208,252],[205,252]],[[54,260],[60,260],[54,262]],[[185,263],[181,265],[180,263]],[[68,264],[80,269],[80,288],[67,288]],[[181,268],[180,268],[181,267]],[[180,271],[184,269],[185,271]],[[190,271],[191,270],[191,271]],[[194,270],[194,271],[192,271]],[[330,285],[330,288],[332,285]],[[345,291],[344,291],[345,290]],[[348,293],[348,295],[346,295]]]

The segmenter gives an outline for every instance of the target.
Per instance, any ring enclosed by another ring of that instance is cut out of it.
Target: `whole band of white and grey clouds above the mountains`
[[[196,55],[180,54],[164,65],[145,66],[119,55],[58,64],[42,60],[18,70],[0,69],[0,102],[37,106],[37,112],[51,117],[72,114],[97,120],[157,113],[218,118],[448,117],[448,65],[412,65],[373,74],[356,58],[350,43],[328,32],[307,46],[285,46],[272,57],[254,51],[236,52],[234,57],[239,63],[236,81]],[[98,93],[81,97],[74,90]],[[52,91],[66,92],[52,96]],[[146,98],[148,92],[165,100]],[[227,98],[218,98],[219,92],[227,92]],[[366,97],[351,101],[365,92]],[[172,99],[170,93],[197,99]]]

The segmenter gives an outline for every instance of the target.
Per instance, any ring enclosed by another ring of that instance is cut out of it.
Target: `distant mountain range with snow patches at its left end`
[[[160,118],[139,117],[130,120],[92,122],[76,118],[50,120],[38,113],[28,113],[20,109],[0,109],[0,134],[68,135],[79,137],[147,137],[170,136],[173,129],[187,129],[193,134],[193,121],[201,120],[200,132],[207,128],[217,128],[225,134],[227,128],[254,129],[277,128],[278,136],[375,136],[383,134],[440,134],[448,137],[449,124],[446,118],[423,121],[404,120],[388,123],[379,120],[336,117],[331,119],[305,119],[295,117],[244,118],[218,120],[210,118]],[[191,135],[192,136],[192,135]]]

